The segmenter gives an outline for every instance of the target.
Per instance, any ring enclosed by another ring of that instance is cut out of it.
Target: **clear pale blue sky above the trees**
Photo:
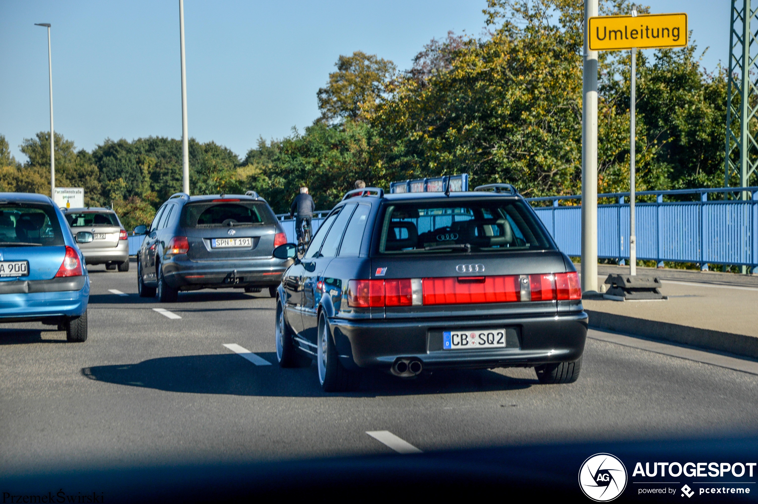
[[[687,12],[703,64],[728,52],[728,0],[645,2]],[[49,130],[52,23],[55,130],[93,149],[105,138],[181,137],[179,2],[0,0],[0,134],[13,154]],[[342,54],[400,69],[448,30],[478,36],[485,0],[243,2],[185,0],[189,135],[244,156],[318,117],[316,91]]]

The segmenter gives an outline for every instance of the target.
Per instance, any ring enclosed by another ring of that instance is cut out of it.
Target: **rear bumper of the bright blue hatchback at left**
[[[61,281],[62,280],[62,281]],[[8,282],[11,283],[11,282]],[[42,321],[44,319],[79,317],[89,302],[89,278],[71,277],[53,280],[33,280],[27,292],[11,292],[11,286],[0,290],[0,322]],[[62,290],[77,287],[79,290]],[[14,286],[19,290],[20,285]]]

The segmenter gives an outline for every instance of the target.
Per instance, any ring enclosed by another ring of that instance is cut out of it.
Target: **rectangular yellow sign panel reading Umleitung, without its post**
[[[590,17],[590,51],[659,49],[687,45],[687,14]]]

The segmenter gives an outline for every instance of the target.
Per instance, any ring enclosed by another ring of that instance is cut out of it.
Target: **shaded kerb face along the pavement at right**
[[[701,349],[758,358],[758,338],[756,337],[688,327],[669,322],[649,321],[604,311],[585,311],[590,317],[590,327],[595,329],[612,330],[630,335],[637,334],[641,337],[683,343]]]

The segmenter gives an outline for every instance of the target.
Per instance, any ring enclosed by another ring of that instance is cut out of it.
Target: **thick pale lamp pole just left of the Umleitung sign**
[[[597,51],[587,39],[598,0],[584,0],[584,74],[581,107],[581,290],[597,292]]]

